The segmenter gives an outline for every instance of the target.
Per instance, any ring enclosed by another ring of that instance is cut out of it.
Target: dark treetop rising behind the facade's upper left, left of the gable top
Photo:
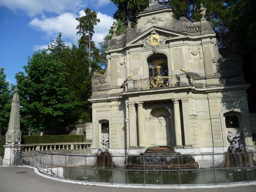
[[[143,11],[148,7],[148,0],[110,0],[116,6],[117,10],[114,13],[114,19],[126,23],[128,28],[131,29],[131,24],[136,23],[136,14]]]

